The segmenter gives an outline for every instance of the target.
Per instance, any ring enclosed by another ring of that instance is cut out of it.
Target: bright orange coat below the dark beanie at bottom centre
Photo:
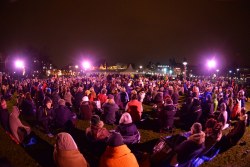
[[[101,156],[100,167],[139,167],[138,162],[127,145],[107,146]]]

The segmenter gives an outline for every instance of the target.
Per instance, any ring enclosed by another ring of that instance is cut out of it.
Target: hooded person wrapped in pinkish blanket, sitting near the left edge
[[[17,144],[24,143],[28,140],[31,128],[25,126],[19,119],[20,111],[17,106],[13,106],[10,114],[9,123],[12,135],[15,137]]]

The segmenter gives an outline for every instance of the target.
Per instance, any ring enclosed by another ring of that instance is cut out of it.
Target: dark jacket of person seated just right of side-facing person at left
[[[72,118],[73,113],[66,106],[59,105],[59,107],[55,109],[54,119],[56,127],[64,127],[66,123],[72,120]]]

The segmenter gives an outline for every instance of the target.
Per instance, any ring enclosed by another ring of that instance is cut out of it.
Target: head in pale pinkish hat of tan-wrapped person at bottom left
[[[72,136],[65,132],[57,134],[55,146],[56,149],[62,151],[72,151],[78,149]]]

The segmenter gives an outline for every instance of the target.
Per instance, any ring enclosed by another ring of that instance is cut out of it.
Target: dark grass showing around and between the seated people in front
[[[14,99],[13,99],[14,100]],[[9,107],[14,104],[14,101],[8,102]],[[247,103],[247,109],[250,110],[250,103]],[[150,111],[150,107],[145,107],[146,112]],[[248,111],[247,110],[247,111]],[[26,120],[27,121],[27,120]],[[92,166],[97,166],[98,156],[94,155],[91,151],[91,147],[88,145],[85,139],[84,130],[89,126],[88,121],[79,120],[77,128],[74,130],[74,139],[78,144],[78,147],[87,161]],[[151,126],[151,125],[150,125]],[[149,127],[150,127],[149,126]],[[108,129],[113,129],[112,126],[106,126]],[[49,138],[39,129],[33,127],[33,132],[38,139],[38,143],[29,147],[22,147],[15,144],[10,137],[5,134],[2,128],[0,128],[0,157],[5,157],[13,167],[53,167],[54,162],[52,158],[53,146],[55,144],[55,138]],[[169,133],[158,133],[153,130],[139,129],[141,133],[141,143],[138,146],[139,149],[147,151],[146,147],[161,136],[171,135]],[[174,134],[179,133],[181,130],[176,129]],[[205,163],[202,167],[247,167],[250,166],[250,129],[242,138],[242,141],[246,142],[246,145],[240,146],[239,144],[232,147],[228,151],[219,154],[209,163]],[[245,153],[245,154],[244,154]]]

